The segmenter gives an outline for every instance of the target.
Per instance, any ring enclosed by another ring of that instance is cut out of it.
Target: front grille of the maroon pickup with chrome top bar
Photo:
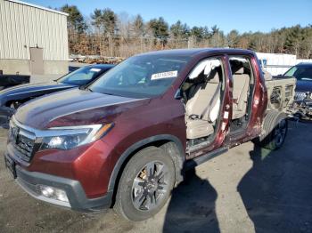
[[[33,152],[36,141],[35,134],[28,132],[11,122],[9,141],[12,143],[14,149],[20,152],[16,156],[20,157],[25,162],[30,162],[34,154]]]

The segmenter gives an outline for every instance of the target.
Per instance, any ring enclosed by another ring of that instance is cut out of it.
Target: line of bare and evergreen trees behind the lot
[[[65,4],[58,10],[69,13],[69,46],[74,54],[126,58],[160,49],[229,47],[312,59],[312,25],[272,29],[269,33],[241,34],[234,29],[226,34],[218,26],[191,28],[181,20],[169,25],[162,17],[144,21],[140,14],[131,17],[110,8],[95,9],[89,18],[76,5]]]

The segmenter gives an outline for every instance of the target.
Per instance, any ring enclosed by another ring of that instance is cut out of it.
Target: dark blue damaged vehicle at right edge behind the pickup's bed
[[[312,119],[312,63],[300,63],[290,68],[283,76],[297,79],[293,111],[301,119]]]

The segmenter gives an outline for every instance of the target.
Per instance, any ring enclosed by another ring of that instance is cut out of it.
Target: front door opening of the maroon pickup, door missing
[[[218,129],[225,90],[221,58],[201,60],[181,86],[189,151],[209,146]]]

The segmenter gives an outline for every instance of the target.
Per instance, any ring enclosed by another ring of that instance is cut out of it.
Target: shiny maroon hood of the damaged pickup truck
[[[18,108],[15,118],[37,129],[103,124],[144,100],[71,89],[29,101]]]

